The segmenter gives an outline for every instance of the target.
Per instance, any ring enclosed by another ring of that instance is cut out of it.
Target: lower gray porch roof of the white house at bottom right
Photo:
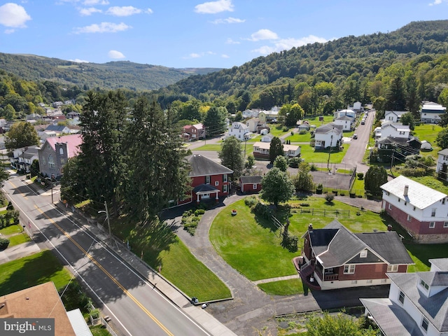
[[[422,336],[419,326],[398,304],[389,299],[359,299],[387,336]]]

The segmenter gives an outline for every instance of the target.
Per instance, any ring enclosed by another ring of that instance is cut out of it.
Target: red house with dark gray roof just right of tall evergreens
[[[219,197],[229,195],[232,169],[202,155],[191,155],[188,163],[192,191],[186,200],[179,201],[178,204],[200,203],[204,200],[218,202]]]

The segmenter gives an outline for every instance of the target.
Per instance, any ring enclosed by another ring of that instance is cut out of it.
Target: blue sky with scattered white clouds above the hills
[[[0,1],[0,52],[231,68],[274,51],[448,19],[448,0]]]

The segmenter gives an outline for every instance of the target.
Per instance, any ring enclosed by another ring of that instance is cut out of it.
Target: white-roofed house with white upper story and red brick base
[[[382,209],[417,242],[448,242],[448,195],[402,175],[381,189]]]

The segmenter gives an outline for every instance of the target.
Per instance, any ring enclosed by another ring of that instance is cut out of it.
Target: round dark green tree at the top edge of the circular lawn
[[[274,167],[261,180],[261,198],[269,203],[278,205],[293,197],[294,186],[286,172]]]

